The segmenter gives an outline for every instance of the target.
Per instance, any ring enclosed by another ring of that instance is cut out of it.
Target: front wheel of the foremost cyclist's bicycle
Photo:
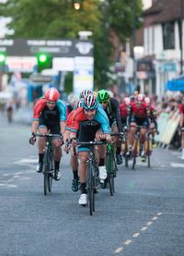
[[[88,206],[90,215],[95,211],[94,177],[92,162],[88,162]]]

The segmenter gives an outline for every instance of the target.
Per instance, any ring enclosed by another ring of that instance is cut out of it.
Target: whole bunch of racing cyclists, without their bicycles
[[[79,145],[75,153],[76,141],[105,140],[112,143],[115,148],[117,165],[121,165],[122,149],[120,137],[111,133],[123,134],[124,128],[128,130],[128,151],[126,155],[131,157],[132,146],[135,137],[136,126],[141,126],[140,131],[140,155],[144,161],[145,133],[151,128],[153,136],[152,143],[155,146],[155,131],[157,130],[155,107],[148,97],[143,94],[133,94],[125,97],[122,104],[111,97],[107,90],[81,91],[78,98],[71,96],[71,104],[66,106],[60,99],[59,91],[50,88],[45,91],[33,109],[33,121],[31,126],[30,144],[36,142],[36,134],[58,134],[54,138],[54,168],[55,179],[60,179],[60,161],[62,157],[62,145],[65,150],[70,151],[70,165],[73,170],[72,189],[77,191],[80,184],[80,197],[78,203],[85,205],[87,201],[86,174],[87,157],[89,147]],[[62,139],[61,139],[62,135]],[[43,171],[44,138],[38,141],[39,163],[37,172]],[[107,179],[106,170],[106,144],[97,147],[98,173],[102,184]],[[105,188],[105,187],[104,187]]]

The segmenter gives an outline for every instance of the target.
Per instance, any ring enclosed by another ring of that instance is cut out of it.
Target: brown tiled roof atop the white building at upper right
[[[162,23],[181,17],[181,1],[184,0],[157,0],[149,9],[144,11],[144,18],[152,16],[153,23]],[[184,13],[184,10],[183,10]]]

